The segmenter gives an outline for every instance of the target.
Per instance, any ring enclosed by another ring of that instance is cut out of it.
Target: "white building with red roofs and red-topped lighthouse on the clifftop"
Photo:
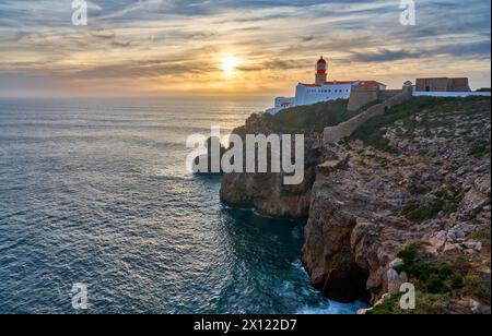
[[[320,101],[349,99],[352,85],[377,85],[380,91],[386,89],[386,85],[376,81],[327,81],[327,61],[321,58],[316,62],[316,77],[314,84],[298,83],[295,88],[295,97],[278,97],[276,106],[267,110],[268,113],[276,115],[279,111],[302,105],[312,105]]]

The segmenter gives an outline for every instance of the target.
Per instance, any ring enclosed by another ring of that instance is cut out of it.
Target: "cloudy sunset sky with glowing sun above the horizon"
[[[401,87],[422,76],[491,86],[491,2],[0,0],[0,96],[293,95],[329,80]]]

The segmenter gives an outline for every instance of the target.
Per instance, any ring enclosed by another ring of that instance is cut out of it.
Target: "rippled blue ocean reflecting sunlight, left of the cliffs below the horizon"
[[[0,99],[0,313],[356,312],[309,285],[304,223],[229,208],[220,177],[186,172],[188,135],[270,104]]]

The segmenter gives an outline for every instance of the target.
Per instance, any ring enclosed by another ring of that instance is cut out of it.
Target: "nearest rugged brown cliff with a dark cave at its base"
[[[375,302],[398,291],[409,278],[391,263],[412,241],[429,257],[480,264],[490,290],[490,247],[473,239],[490,232],[490,99],[426,106],[373,120],[335,149],[344,165],[319,168],[304,263],[327,296],[350,301],[368,290]]]

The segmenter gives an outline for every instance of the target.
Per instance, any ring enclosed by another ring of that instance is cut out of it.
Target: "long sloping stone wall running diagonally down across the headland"
[[[382,104],[377,104],[361,115],[342,122],[336,127],[326,128],[324,131],[325,143],[335,143],[343,137],[350,136],[356,129],[367,122],[367,120],[380,116],[388,109],[400,105],[412,97],[412,87],[406,87],[398,95],[393,96]]]

